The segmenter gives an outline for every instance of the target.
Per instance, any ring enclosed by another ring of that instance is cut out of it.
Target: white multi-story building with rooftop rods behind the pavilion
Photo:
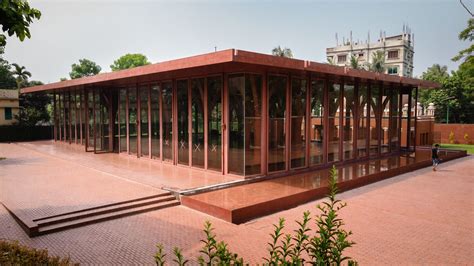
[[[381,34],[375,43],[370,43],[369,40],[362,43],[354,42],[351,37],[343,40],[341,45],[336,43],[336,47],[326,48],[326,56],[328,61],[335,65],[350,66],[353,55],[359,61],[359,65],[367,66],[372,62],[374,52],[382,51],[385,54],[386,74],[412,77],[415,53],[413,37],[414,35],[405,27],[400,35],[386,37],[385,34]]]

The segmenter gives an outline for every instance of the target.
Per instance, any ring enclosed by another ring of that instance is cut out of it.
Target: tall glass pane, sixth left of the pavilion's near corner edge
[[[151,87],[151,156],[160,157],[160,86]]]

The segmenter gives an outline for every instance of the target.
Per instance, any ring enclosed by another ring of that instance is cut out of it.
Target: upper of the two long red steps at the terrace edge
[[[81,211],[64,213],[61,215],[56,215],[53,217],[43,218],[41,220],[35,220],[38,226],[48,226],[52,224],[59,224],[68,221],[73,221],[77,219],[82,219],[86,217],[94,217],[106,213],[113,213],[122,210],[134,209],[142,206],[149,206],[161,202],[169,202],[176,200],[174,196],[161,196],[161,197],[152,197],[148,199],[141,199],[141,200],[133,200],[133,201],[126,201],[120,202],[115,204],[103,205],[94,208],[84,209]]]

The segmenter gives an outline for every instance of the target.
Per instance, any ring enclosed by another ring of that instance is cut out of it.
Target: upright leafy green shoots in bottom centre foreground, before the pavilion
[[[284,234],[285,219],[280,218],[278,224],[273,225],[270,242],[267,243],[268,255],[263,259],[264,265],[357,265],[350,257],[344,256],[344,251],[355,243],[349,241],[351,231],[343,229],[344,222],[339,218],[338,211],[346,207],[346,203],[336,199],[337,170],[333,166],[329,176],[329,195],[327,201],[317,206],[320,214],[315,216],[315,229],[310,228],[311,213],[306,211],[303,218],[296,221],[298,229]],[[204,224],[205,239],[198,258],[200,265],[247,265],[243,258],[231,252],[227,244],[218,242],[214,228],[209,221]],[[155,254],[157,265],[165,265],[166,254],[162,245],[157,245]],[[181,249],[173,249],[173,262],[177,265],[187,265]]]

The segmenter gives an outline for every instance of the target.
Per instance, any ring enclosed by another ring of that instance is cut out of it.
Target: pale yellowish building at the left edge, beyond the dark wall
[[[0,126],[16,123],[19,112],[18,90],[0,90]]]

